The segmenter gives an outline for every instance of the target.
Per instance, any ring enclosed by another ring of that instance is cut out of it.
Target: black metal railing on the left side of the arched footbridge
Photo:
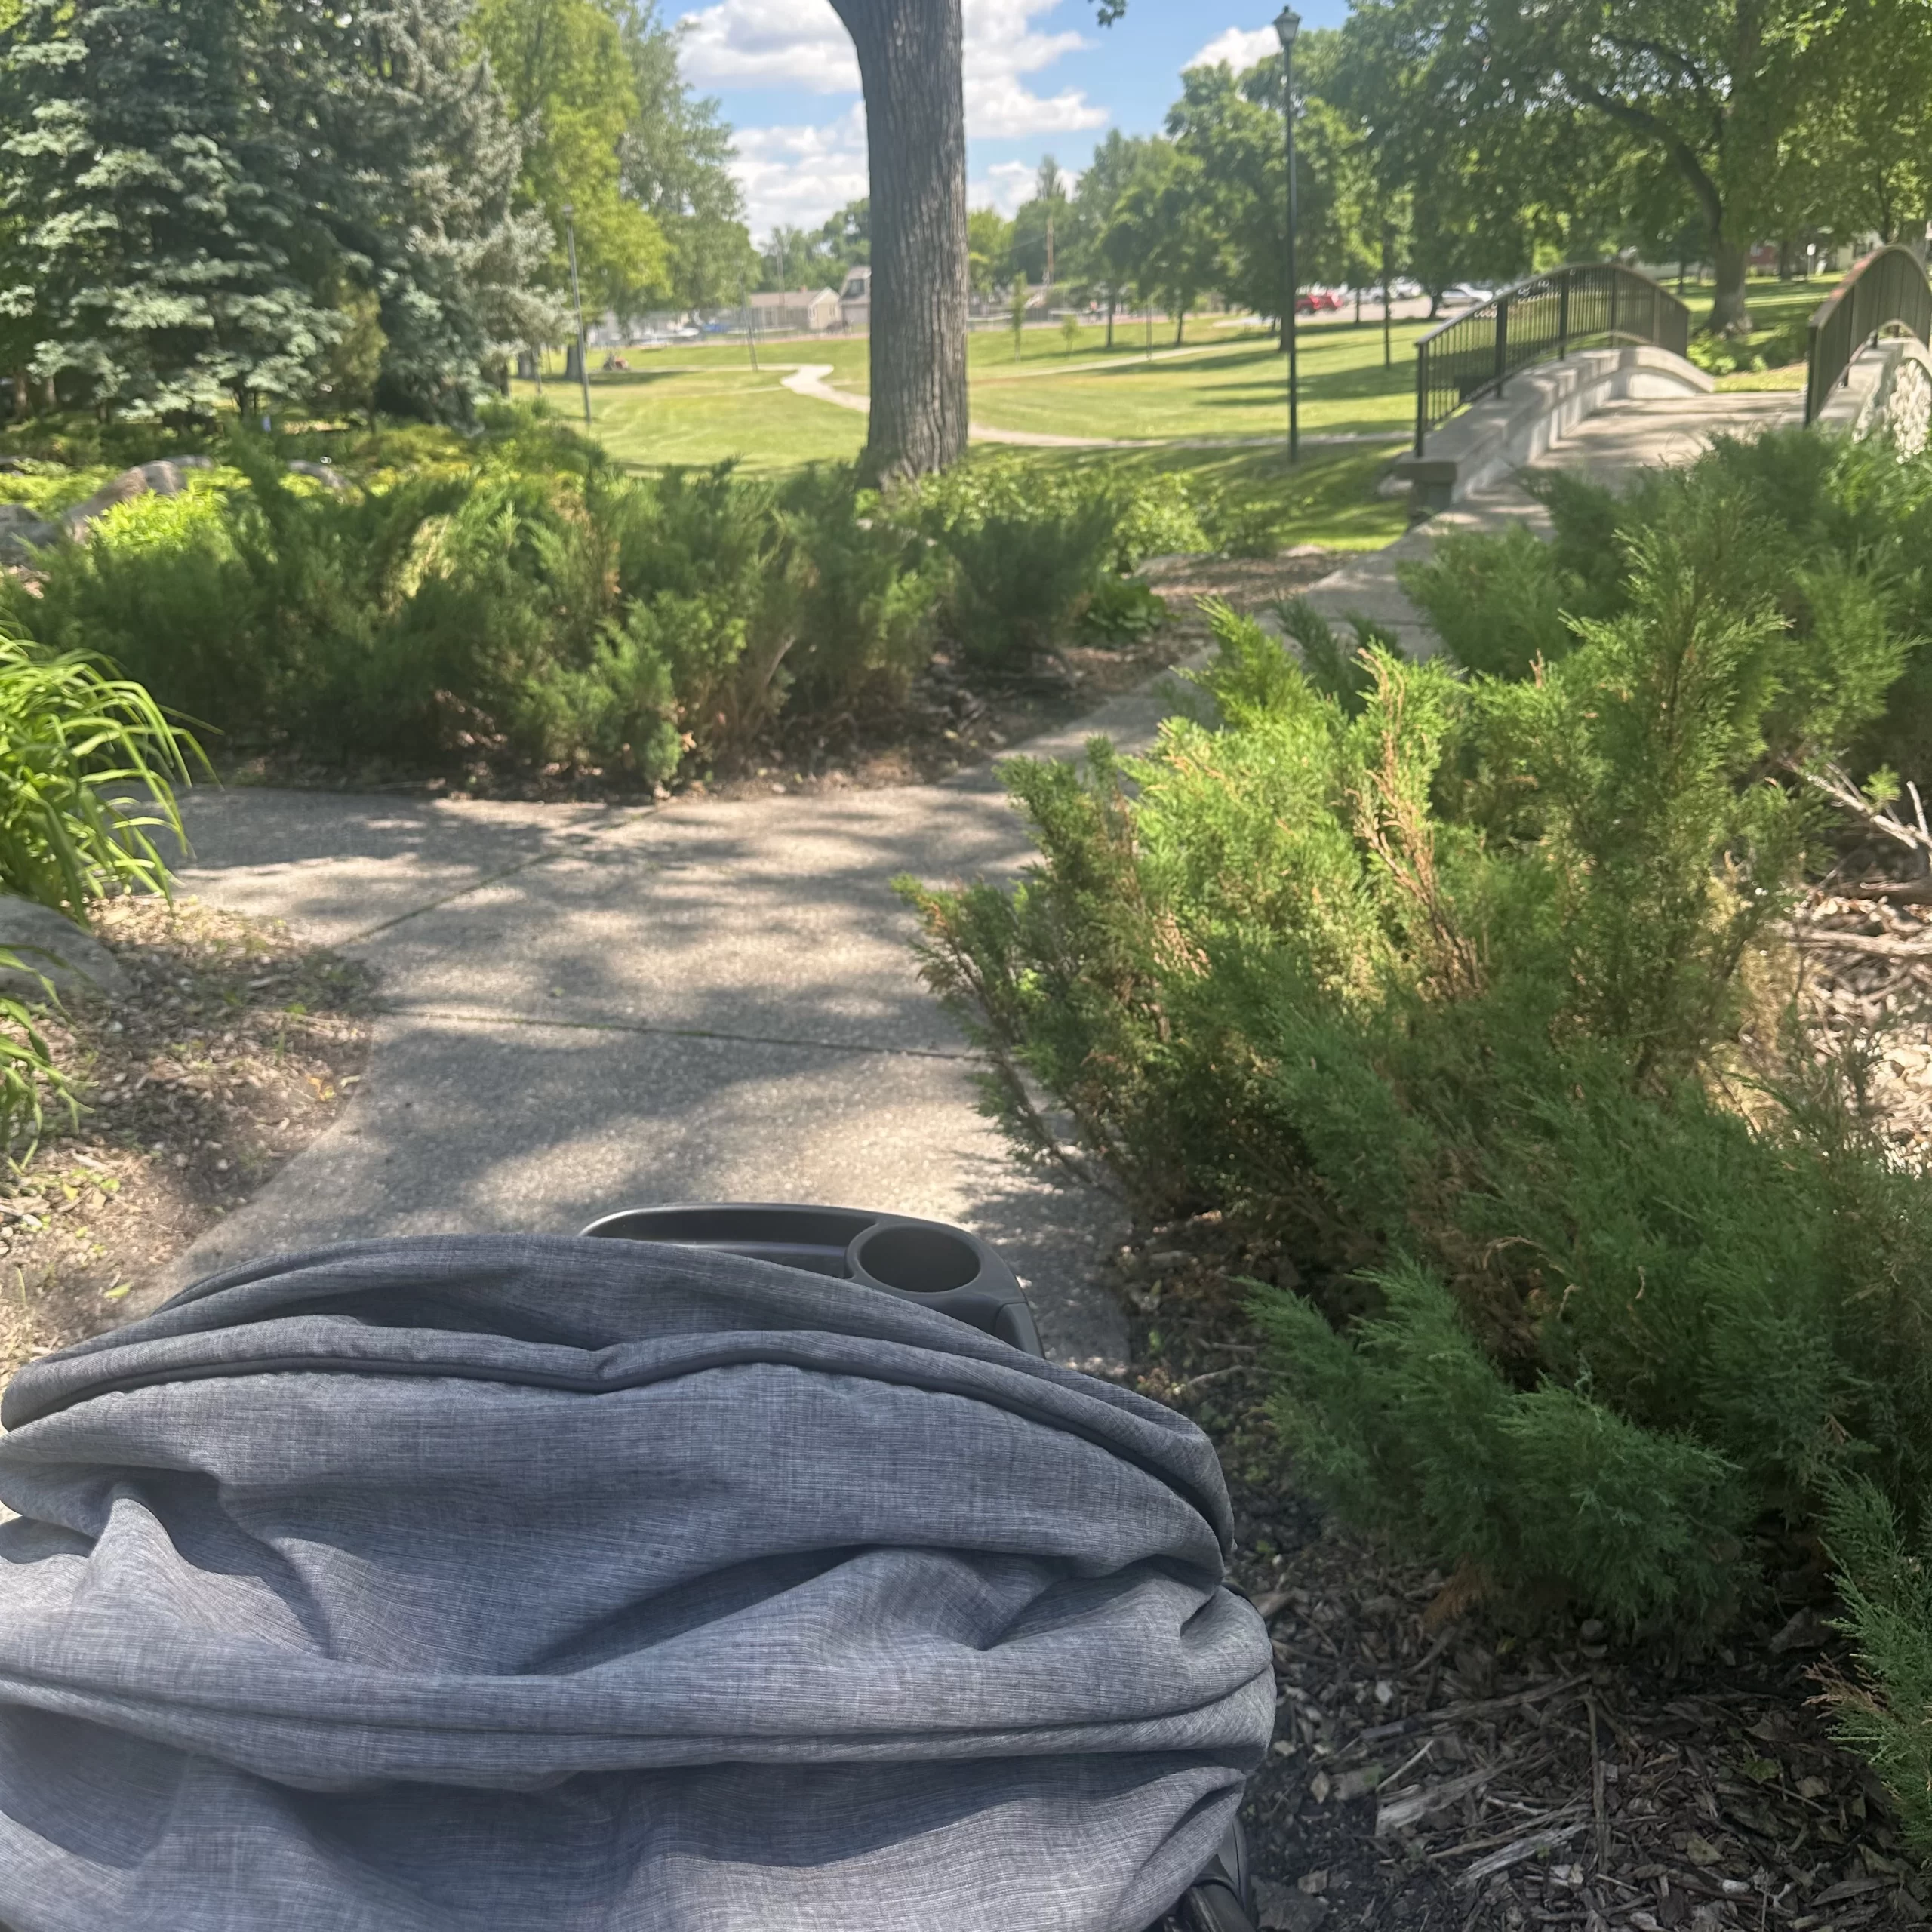
[[[1466,402],[1499,394],[1519,369],[1609,342],[1683,355],[1690,311],[1648,274],[1590,261],[1532,274],[1451,315],[1416,342],[1416,456],[1432,429]]]

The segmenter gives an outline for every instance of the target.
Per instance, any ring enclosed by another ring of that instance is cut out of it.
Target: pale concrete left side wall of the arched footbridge
[[[1565,431],[1607,402],[1708,396],[1712,379],[1669,350],[1631,344],[1578,350],[1513,375],[1499,396],[1453,415],[1395,473],[1408,483],[1410,518],[1432,516],[1536,462]]]

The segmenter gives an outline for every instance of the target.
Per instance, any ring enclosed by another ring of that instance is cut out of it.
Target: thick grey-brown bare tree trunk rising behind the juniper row
[[[960,0],[833,0],[858,50],[871,168],[869,481],[966,454]]]

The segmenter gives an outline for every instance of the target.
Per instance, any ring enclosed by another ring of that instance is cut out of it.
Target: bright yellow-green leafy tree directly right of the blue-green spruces
[[[585,307],[618,315],[670,288],[665,234],[624,193],[624,143],[639,120],[628,23],[624,0],[479,0],[471,25],[524,133],[520,191],[556,236],[551,286],[570,286],[568,207]]]

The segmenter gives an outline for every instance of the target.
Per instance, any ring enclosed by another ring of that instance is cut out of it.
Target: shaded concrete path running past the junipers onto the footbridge
[[[1714,427],[1789,406],[1617,406],[1551,460],[1679,460]],[[1445,522],[1534,510],[1501,491]],[[1360,558],[1318,601],[1428,649],[1393,574],[1426,541]],[[1072,753],[1094,732],[1140,746],[1165,709],[1161,692],[1117,699],[1026,750]],[[129,1314],[305,1242],[817,1200],[978,1229],[1012,1256],[1061,1360],[1122,1362],[1124,1321],[1092,1262],[1124,1217],[1010,1163],[891,893],[902,871],[1010,877],[1030,858],[989,773],[655,810],[197,790],[185,815],[189,893],[365,958],[384,1005],[346,1115]]]

